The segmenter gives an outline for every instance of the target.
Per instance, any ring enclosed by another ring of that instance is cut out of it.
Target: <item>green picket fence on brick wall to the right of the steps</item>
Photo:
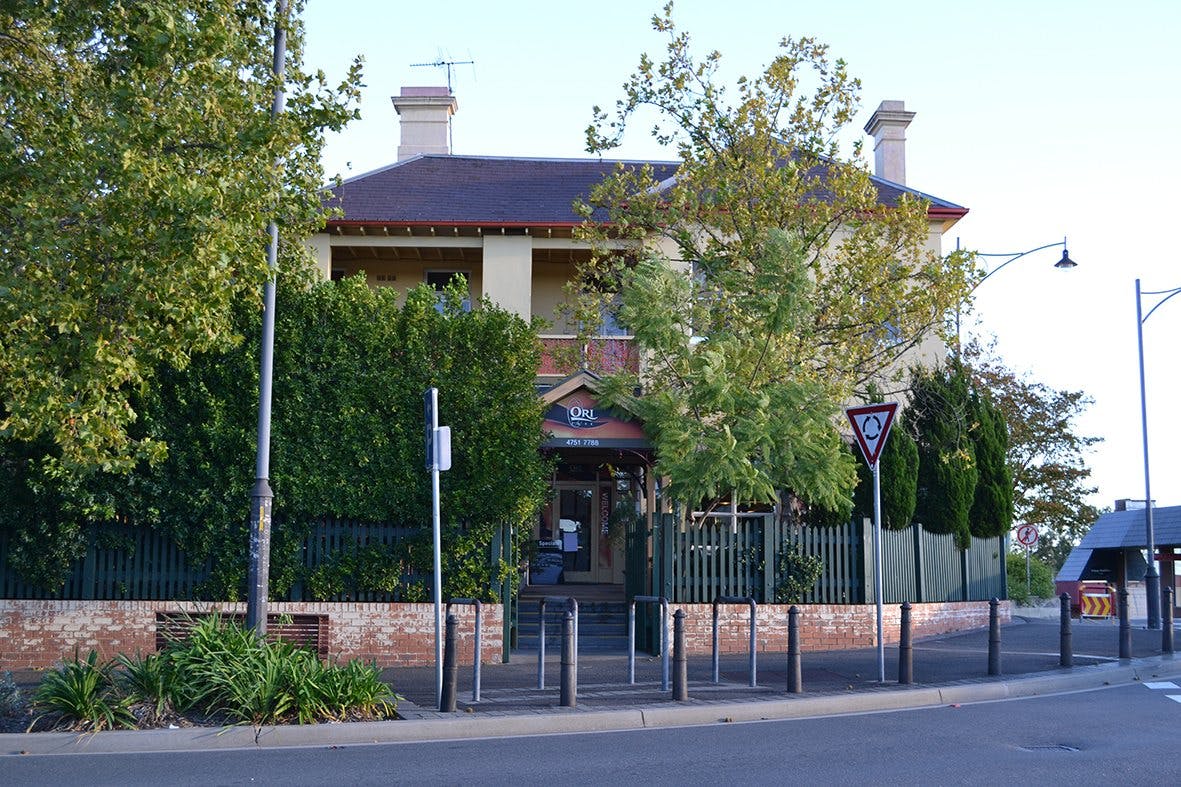
[[[873,601],[873,528],[868,521],[807,527],[771,514],[718,514],[678,522],[657,518],[651,587],[672,601],[706,604],[719,596],[775,598],[776,564],[785,548],[820,558],[824,571],[804,604]],[[639,542],[639,539],[634,539]],[[629,545],[629,552],[635,546]],[[972,539],[968,549],[953,536],[919,525],[882,532],[882,600],[961,601],[1005,598],[1005,539]],[[642,554],[642,552],[641,552]],[[631,567],[631,566],[629,566]],[[637,566],[638,567],[638,566]]]

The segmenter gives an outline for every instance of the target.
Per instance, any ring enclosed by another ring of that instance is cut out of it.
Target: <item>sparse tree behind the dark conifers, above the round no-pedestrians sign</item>
[[[1096,492],[1087,453],[1102,438],[1081,435],[1075,427],[1091,398],[1018,373],[992,347],[976,342],[964,349],[964,357],[976,385],[988,391],[1009,424],[1014,520],[1036,525],[1040,538],[1033,553],[1061,566],[1100,515],[1087,500]]]

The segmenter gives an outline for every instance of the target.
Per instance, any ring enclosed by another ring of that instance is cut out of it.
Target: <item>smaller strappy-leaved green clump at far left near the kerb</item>
[[[131,700],[119,696],[111,678],[113,662],[99,662],[91,650],[86,658],[65,662],[41,678],[33,695],[33,710],[39,715],[28,726],[30,731],[43,718],[52,718],[51,727],[81,731],[104,729],[133,729]]]

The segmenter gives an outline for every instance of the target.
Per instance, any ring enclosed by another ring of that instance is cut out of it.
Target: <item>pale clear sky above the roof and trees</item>
[[[659,0],[308,0],[307,63],[339,79],[365,58],[363,118],[329,141],[329,175],[396,160],[390,97],[452,86],[455,152],[580,157],[594,105],[612,106],[641,52],[665,39]],[[908,186],[971,209],[944,248],[1022,252],[977,291],[965,325],[1005,362],[1095,405],[1078,423],[1096,505],[1143,497],[1134,281],[1181,287],[1181,4],[1176,0],[680,0],[676,18],[726,73],[755,73],[784,35],[830,45],[862,82],[860,131],[882,99],[918,115]],[[644,129],[619,154],[670,158]],[[1150,301],[1146,299],[1146,307]],[[1181,297],[1144,325],[1153,497],[1181,503]]]

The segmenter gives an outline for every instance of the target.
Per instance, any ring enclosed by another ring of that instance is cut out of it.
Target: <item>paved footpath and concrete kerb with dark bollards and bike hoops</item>
[[[1118,658],[1118,626],[1075,622],[1074,666],[1059,666],[1057,618],[1014,614],[1001,627],[1001,675],[987,675],[986,629],[914,643],[914,684],[898,684],[898,648],[886,649],[886,682],[877,679],[877,651],[804,652],[803,692],[787,692],[784,652],[761,652],[756,684],[748,656],[720,659],[712,679],[710,656],[689,661],[690,700],[661,690],[660,659],[638,655],[635,684],[627,681],[626,653],[582,655],[578,705],[560,707],[556,648],[547,649],[546,688],[537,688],[536,652],[514,653],[508,664],[484,664],[481,696],[472,697],[472,666],[458,679],[458,711],[435,705],[435,668],[387,669],[384,677],[404,697],[398,721],[227,729],[184,728],[93,735],[33,733],[0,735],[0,755],[100,752],[169,752],[240,747],[344,746],[380,742],[543,735],[805,718],[1100,689],[1181,676],[1181,658],[1161,651],[1161,632],[1133,627],[1133,658]],[[554,643],[555,645],[557,643]]]

